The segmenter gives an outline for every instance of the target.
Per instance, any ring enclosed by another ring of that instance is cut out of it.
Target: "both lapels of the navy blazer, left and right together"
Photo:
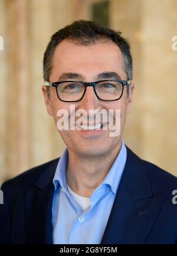
[[[53,177],[51,162],[40,178],[24,189],[28,244],[53,244]],[[153,196],[146,164],[127,148],[127,161],[101,244],[143,244],[158,216],[165,196]]]

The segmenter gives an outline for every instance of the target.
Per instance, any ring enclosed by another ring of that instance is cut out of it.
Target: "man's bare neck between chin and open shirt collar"
[[[83,157],[68,148],[67,184],[80,196],[90,197],[103,182],[114,160],[119,154],[122,142],[107,155]]]

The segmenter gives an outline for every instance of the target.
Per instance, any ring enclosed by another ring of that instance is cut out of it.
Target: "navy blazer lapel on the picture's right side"
[[[101,244],[143,244],[165,196],[153,196],[146,164],[127,148],[127,161]]]

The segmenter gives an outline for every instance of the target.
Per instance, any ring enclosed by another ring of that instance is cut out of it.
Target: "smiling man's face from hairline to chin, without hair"
[[[116,73],[121,80],[127,80],[124,71],[123,56],[120,48],[111,41],[99,40],[90,46],[83,46],[73,43],[69,40],[61,41],[55,48],[53,56],[53,68],[50,75],[50,82],[59,80],[81,80],[84,82],[95,82],[99,79],[101,73]],[[66,73],[74,73],[65,76]],[[61,78],[62,76],[62,78]],[[115,77],[104,76],[105,79],[115,79]],[[59,131],[63,141],[75,154],[83,157],[99,157],[108,155],[112,150],[119,150],[120,141],[126,122],[126,114],[130,111],[132,103],[132,92],[134,86],[130,89],[130,95],[127,96],[127,88],[124,87],[123,96],[119,101],[100,101],[94,93],[93,87],[87,87],[84,98],[79,102],[62,102],[58,99],[56,90],[53,86],[50,88],[50,99],[47,98],[46,86],[42,86],[45,105],[48,114],[54,116],[57,125],[59,109],[65,109],[70,113],[70,105],[75,105],[75,111],[84,109],[88,115],[90,109],[120,109],[120,135],[110,136],[110,130],[101,129],[98,131],[87,130],[63,130]],[[114,115],[114,118],[116,116]],[[76,118],[77,121],[78,118]],[[69,116],[70,120],[70,116]],[[69,121],[70,122],[70,121]],[[115,124],[115,122],[114,122]]]

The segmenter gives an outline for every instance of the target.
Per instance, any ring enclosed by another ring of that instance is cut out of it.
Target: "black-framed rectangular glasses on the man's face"
[[[101,101],[118,101],[123,95],[125,85],[130,85],[130,80],[101,80],[97,82],[59,81],[46,86],[54,86],[57,96],[63,102],[77,102],[83,99],[87,86],[92,86],[98,99]]]

